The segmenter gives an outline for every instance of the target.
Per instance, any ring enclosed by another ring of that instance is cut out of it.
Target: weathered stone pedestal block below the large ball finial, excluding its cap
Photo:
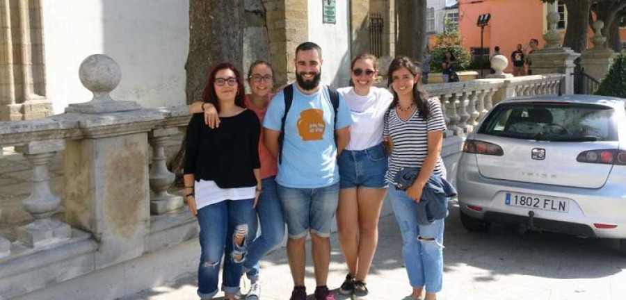
[[[67,222],[100,242],[98,268],[141,256],[150,226],[146,133],[68,142]]]

